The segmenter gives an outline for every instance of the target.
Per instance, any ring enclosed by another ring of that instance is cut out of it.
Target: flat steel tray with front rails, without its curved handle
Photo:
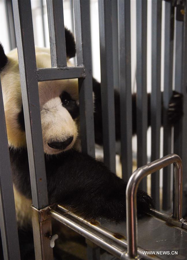
[[[116,224],[115,221],[111,222],[104,218],[88,222],[61,205],[58,205],[56,210],[52,209],[51,214],[53,218],[96,244],[103,243],[100,246],[116,257],[129,259],[126,222]],[[151,215],[138,219],[138,254],[143,259],[187,259],[186,242],[185,228],[171,226],[167,221]],[[146,251],[155,253],[144,255]]]

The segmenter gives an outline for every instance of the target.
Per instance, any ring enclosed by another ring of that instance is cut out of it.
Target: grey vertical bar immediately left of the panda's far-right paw
[[[171,2],[164,1],[164,92],[163,92],[163,155],[171,153],[171,125],[168,123],[167,109],[172,96],[173,78],[173,18],[171,18]],[[171,20],[172,19],[172,20]],[[171,207],[171,165],[163,169],[162,208]]]

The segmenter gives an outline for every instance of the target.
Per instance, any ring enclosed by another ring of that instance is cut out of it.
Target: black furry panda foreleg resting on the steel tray
[[[55,171],[54,171],[55,168]],[[126,218],[126,183],[102,162],[77,151],[46,161],[50,203],[62,203],[84,218]],[[152,199],[138,191],[139,214],[153,207]]]

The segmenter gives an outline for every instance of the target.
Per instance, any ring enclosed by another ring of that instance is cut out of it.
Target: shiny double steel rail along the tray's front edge
[[[118,239],[114,236],[114,233],[103,226],[91,224],[91,222],[84,218],[75,215],[65,207],[58,205],[60,210],[50,210],[52,218],[70,227],[80,235],[90,239],[92,242],[102,247],[106,251],[110,252],[114,256],[120,259],[129,259],[127,257],[127,241],[126,239]],[[138,253],[143,256],[143,249],[138,247]],[[158,259],[151,256],[144,256],[144,259]]]

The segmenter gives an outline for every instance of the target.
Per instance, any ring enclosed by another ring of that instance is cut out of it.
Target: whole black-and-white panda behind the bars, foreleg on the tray
[[[71,66],[69,58],[75,56],[75,42],[70,31],[65,29],[65,33],[67,64]],[[37,67],[49,68],[50,50],[36,47],[35,51]],[[21,256],[22,259],[31,259],[32,239],[29,240],[28,234],[24,233],[31,225],[31,184],[16,49],[6,56],[3,47],[0,46],[0,71]],[[126,183],[102,162],[80,152],[78,80],[39,82],[38,88],[49,204],[61,203],[88,220],[97,217],[106,217],[117,222],[125,220]],[[100,83],[95,79],[93,91],[96,143],[102,144]],[[135,98],[133,95],[133,133],[136,131]],[[170,119],[175,121],[182,115],[180,94],[173,93],[170,107]],[[119,139],[117,92],[115,116],[116,139]],[[138,214],[149,212],[152,207],[152,199],[139,190]]]

